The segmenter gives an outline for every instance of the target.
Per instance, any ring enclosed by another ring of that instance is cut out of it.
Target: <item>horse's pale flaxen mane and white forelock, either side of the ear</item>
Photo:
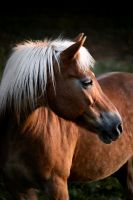
[[[48,76],[55,86],[54,64],[60,67],[60,54],[74,42],[69,40],[28,41],[17,45],[9,57],[0,85],[0,110],[12,105],[19,113],[28,106],[34,108],[38,86],[46,90]],[[94,59],[81,47],[77,62],[81,69],[93,67]]]

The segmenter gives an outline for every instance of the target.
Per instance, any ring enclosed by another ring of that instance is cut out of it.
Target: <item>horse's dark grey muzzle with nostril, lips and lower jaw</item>
[[[103,113],[103,115],[105,119],[94,119],[85,112],[80,118],[80,122],[82,122],[83,124],[81,124],[89,131],[96,133],[103,143],[110,144],[120,137],[123,127],[121,119],[119,119],[115,114]],[[108,117],[107,120],[106,117]]]

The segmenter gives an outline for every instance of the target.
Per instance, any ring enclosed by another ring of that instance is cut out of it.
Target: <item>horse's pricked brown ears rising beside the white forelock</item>
[[[72,44],[70,47],[68,47],[61,53],[61,56],[64,58],[67,58],[67,59],[75,58],[80,47],[83,46],[85,40],[86,40],[86,36],[83,36],[83,34],[82,34],[78,38],[78,41],[76,41],[74,44]]]

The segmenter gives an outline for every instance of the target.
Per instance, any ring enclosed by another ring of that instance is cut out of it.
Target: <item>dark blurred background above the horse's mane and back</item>
[[[133,11],[130,1],[3,1],[0,6],[0,68],[22,40],[73,39],[96,59],[96,73],[133,71]]]

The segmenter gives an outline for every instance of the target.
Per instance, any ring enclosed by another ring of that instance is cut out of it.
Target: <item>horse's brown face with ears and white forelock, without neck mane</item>
[[[103,142],[111,143],[122,133],[122,120],[89,66],[93,59],[83,47],[85,39],[80,34],[60,54],[60,69],[54,68],[55,91],[52,84],[47,89],[49,106],[60,117],[96,132]]]

